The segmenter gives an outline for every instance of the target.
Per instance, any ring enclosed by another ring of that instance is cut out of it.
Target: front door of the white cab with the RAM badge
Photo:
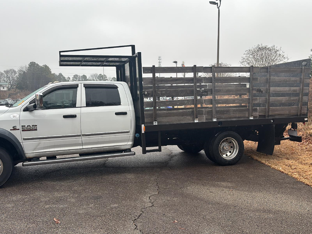
[[[20,130],[26,156],[51,156],[82,149],[80,85],[54,86],[43,93],[42,110],[21,109]]]

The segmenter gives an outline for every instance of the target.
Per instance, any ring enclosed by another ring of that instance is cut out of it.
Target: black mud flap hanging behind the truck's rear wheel
[[[273,155],[275,145],[274,124],[263,125],[259,129],[257,152]]]

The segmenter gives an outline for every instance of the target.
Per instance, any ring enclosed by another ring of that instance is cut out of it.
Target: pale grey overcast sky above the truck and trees
[[[311,10],[312,0],[222,0],[220,62],[239,66],[260,43],[281,47],[290,61],[308,58]],[[158,56],[162,66],[216,62],[217,9],[209,0],[0,0],[0,30],[0,71],[35,61],[89,77],[102,68],[59,67],[59,51],[126,44],[142,52],[143,66],[157,66]]]

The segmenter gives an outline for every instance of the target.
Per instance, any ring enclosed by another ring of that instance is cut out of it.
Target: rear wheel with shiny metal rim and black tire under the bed
[[[209,144],[209,152],[217,164],[234,165],[244,154],[244,141],[235,132],[223,132],[216,135]]]

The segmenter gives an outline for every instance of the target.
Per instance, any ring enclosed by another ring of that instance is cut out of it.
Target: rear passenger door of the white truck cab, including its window
[[[88,83],[81,91],[83,149],[125,149],[131,134],[131,113],[124,87]]]

